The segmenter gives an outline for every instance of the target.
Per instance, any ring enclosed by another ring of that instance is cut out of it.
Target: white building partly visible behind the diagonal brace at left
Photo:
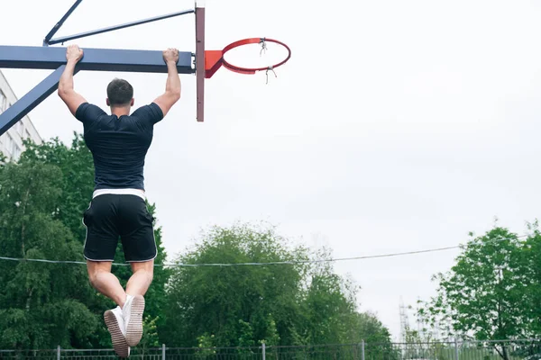
[[[0,113],[17,101],[14,91],[7,83],[4,74],[0,71]],[[5,157],[17,161],[24,150],[23,139],[32,139],[36,144],[41,144],[41,137],[28,116],[18,121],[11,129],[0,136],[0,152]]]

